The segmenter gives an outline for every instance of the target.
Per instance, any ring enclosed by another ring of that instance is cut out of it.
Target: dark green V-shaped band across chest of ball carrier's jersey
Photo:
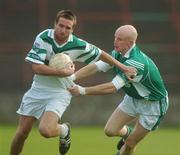
[[[40,38],[51,44],[53,51],[57,54],[57,53],[61,53],[64,51],[69,51],[69,50],[74,50],[74,49],[81,49],[84,50],[86,48],[86,43],[82,40],[79,40],[76,36],[73,35],[73,42],[68,42],[65,46],[63,47],[57,47],[55,42],[53,41],[53,39],[51,37],[48,36],[49,31],[45,31],[44,33],[42,33],[40,35]]]

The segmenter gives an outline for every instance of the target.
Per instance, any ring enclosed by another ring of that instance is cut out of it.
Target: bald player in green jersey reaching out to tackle
[[[159,70],[136,46],[137,35],[136,29],[131,25],[119,27],[115,32],[112,51],[118,61],[137,69],[137,75],[133,79],[129,80],[122,71],[114,67],[116,76],[111,82],[92,87],[77,85],[69,89],[74,95],[109,94],[120,88],[124,90],[124,100],[105,126],[107,136],[122,137],[117,144],[116,155],[132,155],[137,143],[158,127],[168,109],[168,94]],[[110,68],[112,66],[109,64],[98,61],[80,69],[72,77],[79,80],[97,71],[106,72]],[[135,119],[136,124],[132,131],[128,123]]]

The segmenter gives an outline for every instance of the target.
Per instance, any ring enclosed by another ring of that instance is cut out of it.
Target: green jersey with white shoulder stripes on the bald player
[[[156,101],[167,96],[167,91],[160,72],[155,63],[137,46],[133,46],[124,56],[120,52],[112,51],[112,56],[127,66],[137,69],[137,75],[130,82],[122,71],[114,67],[115,74],[124,80],[123,90],[131,97]]]

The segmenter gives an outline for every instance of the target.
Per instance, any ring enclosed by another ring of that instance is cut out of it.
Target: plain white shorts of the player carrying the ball
[[[70,104],[71,97],[72,95],[66,90],[51,92],[31,88],[23,96],[17,113],[39,119],[45,111],[52,111],[61,118]]]

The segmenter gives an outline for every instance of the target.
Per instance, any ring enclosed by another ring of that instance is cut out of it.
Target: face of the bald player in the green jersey
[[[121,31],[116,31],[114,35],[114,50],[125,53],[129,49],[129,41]]]

